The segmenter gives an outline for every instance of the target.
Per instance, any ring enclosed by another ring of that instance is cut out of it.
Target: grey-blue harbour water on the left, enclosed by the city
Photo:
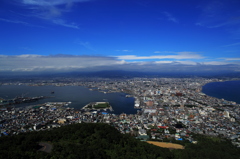
[[[51,92],[54,91],[54,94]],[[0,97],[3,99],[13,99],[16,96],[25,97],[53,96],[52,98],[41,99],[34,103],[25,103],[15,105],[23,107],[28,105],[43,104],[46,102],[72,102],[69,107],[81,109],[90,102],[109,102],[114,109],[114,114],[136,114],[134,109],[134,98],[126,98],[125,93],[107,93],[90,91],[81,86],[25,86],[25,85],[7,85],[0,86]]]

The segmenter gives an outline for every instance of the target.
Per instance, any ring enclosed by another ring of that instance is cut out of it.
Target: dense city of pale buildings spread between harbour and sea
[[[239,80],[239,79],[231,79]],[[6,106],[0,98],[1,136],[41,131],[73,123],[108,123],[123,134],[141,140],[189,141],[191,133],[227,138],[240,147],[240,104],[201,92],[217,78],[52,79],[2,82],[1,85],[84,86],[103,93],[125,92],[135,98],[137,114],[116,115],[102,109],[67,107],[68,102],[49,102],[28,107]],[[9,103],[10,104],[10,103]],[[111,103],[110,103],[111,104]]]

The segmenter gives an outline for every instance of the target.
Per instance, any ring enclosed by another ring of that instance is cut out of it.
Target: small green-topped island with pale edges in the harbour
[[[101,110],[113,111],[112,106],[109,104],[109,102],[91,102],[91,103],[85,105],[82,108],[82,110],[85,110],[85,111],[94,111],[94,110],[96,110],[96,111],[101,111]]]

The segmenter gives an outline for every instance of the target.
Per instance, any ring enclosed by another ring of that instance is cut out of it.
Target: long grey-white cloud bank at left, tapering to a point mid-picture
[[[99,66],[124,64],[124,61],[112,57],[101,56],[69,56],[69,55],[16,55],[0,56],[1,70],[74,70]]]

